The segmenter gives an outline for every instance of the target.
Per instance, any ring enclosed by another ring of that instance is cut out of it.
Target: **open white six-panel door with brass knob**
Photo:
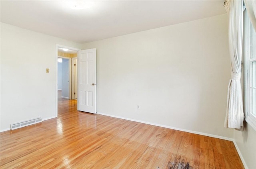
[[[96,113],[96,49],[78,51],[77,75],[77,109]]]

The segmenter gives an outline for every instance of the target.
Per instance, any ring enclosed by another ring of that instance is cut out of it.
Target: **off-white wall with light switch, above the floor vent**
[[[10,124],[56,113],[56,44],[81,48],[57,37],[1,23],[0,131]],[[46,73],[46,68],[50,73]]]

